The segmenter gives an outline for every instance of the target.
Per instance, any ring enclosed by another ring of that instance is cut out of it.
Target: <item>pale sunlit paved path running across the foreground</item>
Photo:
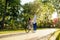
[[[56,29],[42,29],[35,33],[23,33],[0,38],[0,40],[47,40]]]

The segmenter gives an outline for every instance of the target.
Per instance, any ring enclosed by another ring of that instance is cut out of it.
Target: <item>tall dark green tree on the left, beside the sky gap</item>
[[[17,20],[18,14],[19,14],[19,10],[20,10],[20,0],[1,0],[1,7],[3,7],[3,11],[0,13],[3,14],[2,15],[2,26],[1,28],[4,28],[4,24],[7,23],[8,20]],[[8,21],[8,23],[10,22]]]

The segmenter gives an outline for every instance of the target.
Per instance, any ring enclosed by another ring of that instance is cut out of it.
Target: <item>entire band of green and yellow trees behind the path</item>
[[[37,15],[37,28],[54,28],[52,14],[56,10],[58,22],[55,28],[60,28],[60,0],[34,0],[21,4],[21,0],[0,0],[0,29],[24,29],[28,18]]]

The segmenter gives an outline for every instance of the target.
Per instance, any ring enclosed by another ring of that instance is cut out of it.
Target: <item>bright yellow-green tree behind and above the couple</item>
[[[49,0],[35,0],[33,3],[25,4],[23,6],[23,9],[23,12],[27,13],[28,15],[30,14],[30,16],[36,13],[37,24],[39,25],[40,21],[51,20],[51,14],[54,12],[54,6],[52,5],[52,3],[50,3]]]

